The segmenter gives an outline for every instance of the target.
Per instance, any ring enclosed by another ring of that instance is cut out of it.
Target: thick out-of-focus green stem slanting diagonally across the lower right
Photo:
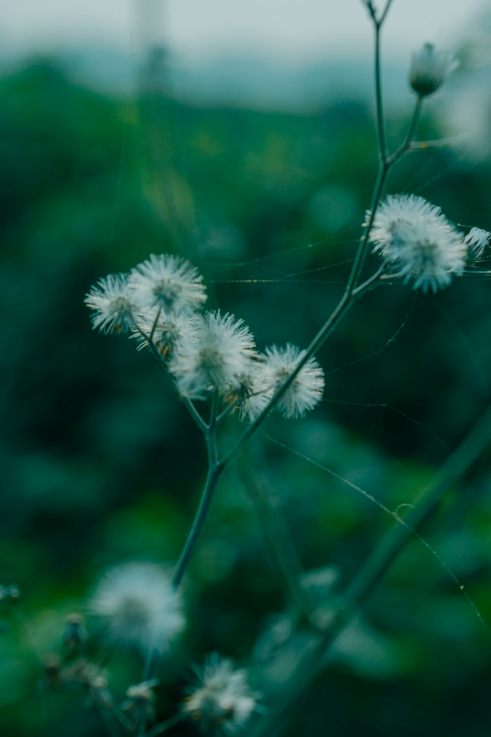
[[[303,657],[283,692],[282,702],[258,727],[251,737],[274,737],[286,720],[296,712],[301,698],[317,679],[325,656],[339,633],[350,623],[353,616],[364,607],[384,573],[398,558],[400,552],[414,532],[434,514],[445,491],[476,461],[491,444],[491,405],[478,419],[473,429],[457,450],[448,458],[434,476],[431,485],[420,494],[420,503],[411,511],[404,525],[398,524],[381,541],[351,581],[343,597],[345,605],[336,612],[333,622],[325,630],[317,644]]]

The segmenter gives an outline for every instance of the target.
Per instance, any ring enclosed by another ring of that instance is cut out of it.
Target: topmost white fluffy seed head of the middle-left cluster
[[[142,305],[161,310],[197,310],[206,301],[197,268],[171,254],[152,254],[130,274],[130,285]]]

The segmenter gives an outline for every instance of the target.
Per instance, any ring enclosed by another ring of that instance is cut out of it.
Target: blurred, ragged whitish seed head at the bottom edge
[[[233,660],[212,653],[203,668],[195,668],[196,685],[189,686],[183,713],[200,723],[203,730],[222,729],[233,733],[244,727],[258,706],[259,694],[250,690],[247,671]]]

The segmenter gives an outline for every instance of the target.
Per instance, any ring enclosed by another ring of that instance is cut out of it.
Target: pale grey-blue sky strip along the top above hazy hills
[[[491,0],[394,0],[386,58],[408,57],[425,41],[456,48],[486,10]],[[364,57],[371,47],[361,0],[0,0],[0,17],[1,48],[15,53],[96,43],[138,54],[145,26],[193,57],[252,51],[301,63]]]

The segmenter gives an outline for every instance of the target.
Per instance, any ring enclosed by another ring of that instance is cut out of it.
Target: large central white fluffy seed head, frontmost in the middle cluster
[[[244,321],[228,312],[205,312],[197,340],[183,341],[171,363],[181,394],[202,399],[211,388],[239,388],[253,348],[254,338]]]

